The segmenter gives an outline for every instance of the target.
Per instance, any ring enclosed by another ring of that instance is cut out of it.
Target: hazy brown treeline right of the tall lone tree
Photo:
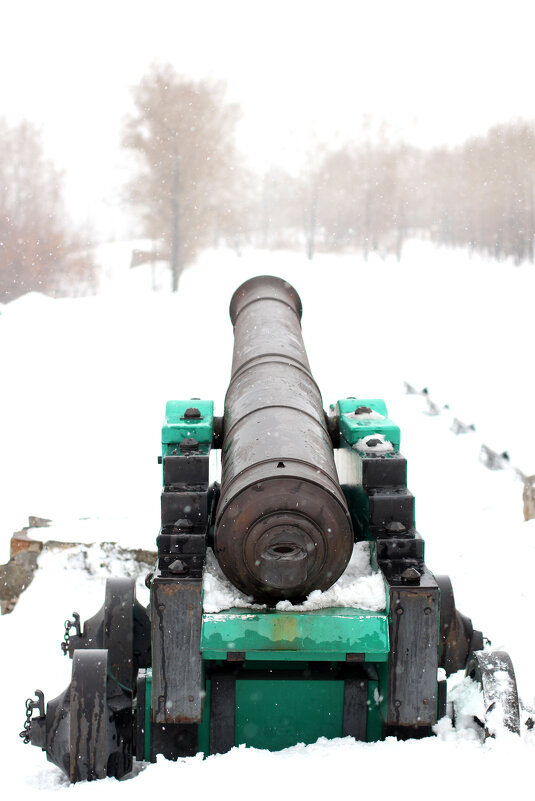
[[[401,254],[408,236],[533,262],[535,125],[498,125],[457,147],[348,143],[318,151],[305,171],[264,177],[255,237],[264,247],[304,245]]]

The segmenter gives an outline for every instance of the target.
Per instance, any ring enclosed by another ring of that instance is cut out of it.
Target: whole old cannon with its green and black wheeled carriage
[[[497,707],[520,730],[509,656],[483,650],[449,578],[425,564],[398,426],[377,398],[324,411],[301,313],[286,281],[245,282],[230,304],[223,415],[209,400],[167,403],[150,604],[133,579],[109,579],[99,612],[66,622],[70,685],[48,705],[41,691],[26,702],[21,736],[71,782],[121,778],[158,754],[428,736],[459,670],[482,689],[482,736]],[[379,604],[329,596],[357,551]],[[210,611],[215,560],[239,597]]]

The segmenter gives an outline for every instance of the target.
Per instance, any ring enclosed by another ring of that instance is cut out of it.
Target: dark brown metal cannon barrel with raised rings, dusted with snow
[[[273,276],[246,281],[230,303],[214,550],[236,587],[268,603],[326,590],[353,547],[301,311],[295,289]]]

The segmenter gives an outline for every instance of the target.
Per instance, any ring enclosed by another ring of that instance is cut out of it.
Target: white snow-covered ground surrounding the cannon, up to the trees
[[[376,256],[365,263],[319,255],[310,263],[301,254],[212,251],[173,296],[163,275],[151,276],[148,266],[128,269],[131,248],[99,249],[96,297],[30,294],[0,306],[0,562],[28,515],[51,518],[51,538],[155,547],[165,401],[213,398],[222,413],[230,297],[253,275],[279,275],[301,295],[303,335],[325,406],[347,395],[385,398],[401,427],[426,563],[451,576],[457,607],[493,647],[510,652],[526,719],[535,711],[535,521],[523,521],[514,471],[490,471],[478,455],[485,443],[535,473],[533,267],[417,241],[400,264]],[[152,291],[153,278],[160,291]],[[427,386],[441,413],[427,414],[426,397],[405,394],[404,381]],[[454,418],[476,430],[456,436]],[[425,741],[345,739],[276,754],[240,748],[204,761],[161,761],[132,781],[69,788],[44,754],[19,740],[24,700],[36,687],[47,699],[64,689],[70,663],[59,649],[63,621],[73,610],[91,616],[106,576],[130,569],[110,564],[98,547],[43,556],[14,613],[0,619],[4,788],[23,798],[137,798],[174,787],[202,798],[533,794],[533,731],[524,726],[522,738],[505,734],[481,744],[446,721]],[[139,585],[146,601],[142,577]]]

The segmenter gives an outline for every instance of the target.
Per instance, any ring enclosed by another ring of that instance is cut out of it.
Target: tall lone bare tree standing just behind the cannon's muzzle
[[[129,199],[147,236],[167,254],[173,291],[198,252],[233,227],[239,111],[224,95],[222,84],[180,77],[170,65],[154,66],[134,90],[136,110],[123,141],[137,154],[139,171]]]

